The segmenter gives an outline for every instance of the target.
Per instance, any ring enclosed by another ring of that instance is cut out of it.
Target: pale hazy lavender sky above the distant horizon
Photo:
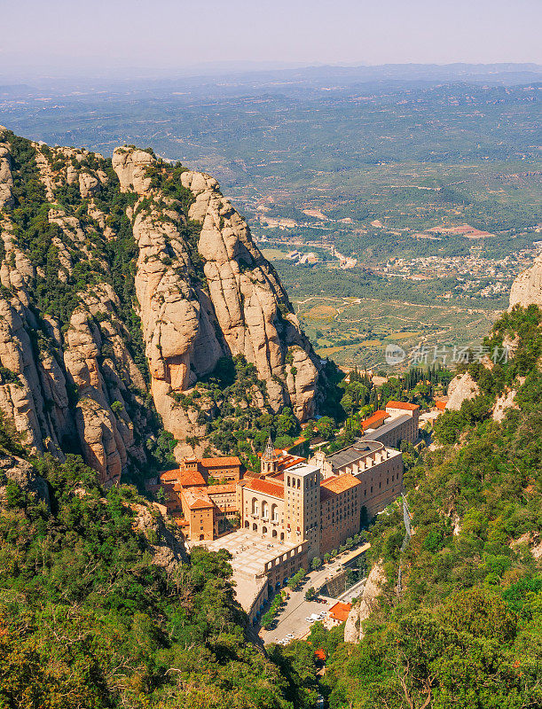
[[[542,0],[0,0],[0,68],[542,62]]]

